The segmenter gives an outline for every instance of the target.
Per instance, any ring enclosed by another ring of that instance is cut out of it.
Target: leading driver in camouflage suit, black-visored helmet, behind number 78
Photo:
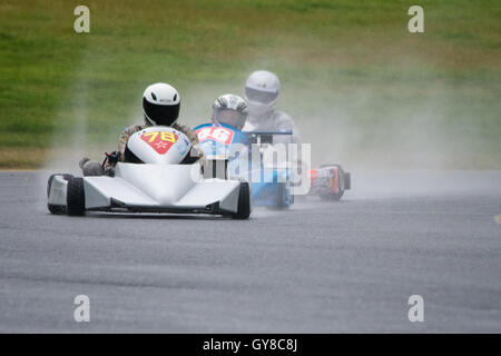
[[[127,161],[125,150],[129,137],[137,131],[156,125],[173,127],[185,134],[191,141],[191,151],[181,164],[193,164],[203,158],[204,152],[198,148],[198,137],[195,131],[187,126],[177,123],[179,107],[180,97],[174,87],[158,82],[146,88],[143,95],[145,123],[127,127],[118,140],[118,151],[106,154],[107,157],[102,165],[89,158],[82,158],[79,166],[84,171],[84,176],[102,176],[104,174],[112,176],[116,164],[118,161]]]

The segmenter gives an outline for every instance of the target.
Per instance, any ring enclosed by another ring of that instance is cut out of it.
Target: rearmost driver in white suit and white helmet
[[[292,131],[292,142],[299,144],[299,132],[294,120],[275,108],[279,90],[281,82],[271,71],[258,70],[247,78],[245,99],[248,118],[243,131]],[[274,140],[279,141],[281,137],[276,136]]]

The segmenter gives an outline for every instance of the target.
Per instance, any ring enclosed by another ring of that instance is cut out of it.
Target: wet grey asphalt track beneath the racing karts
[[[352,175],[233,221],[51,216],[46,174],[0,172],[0,332],[501,332],[501,171]]]

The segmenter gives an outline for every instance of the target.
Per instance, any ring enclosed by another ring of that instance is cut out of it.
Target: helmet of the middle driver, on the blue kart
[[[242,130],[247,115],[247,102],[233,93],[225,93],[213,103],[214,122],[226,123]]]

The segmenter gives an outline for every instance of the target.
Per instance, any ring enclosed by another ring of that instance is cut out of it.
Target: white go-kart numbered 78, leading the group
[[[134,162],[118,162],[114,177],[52,175],[47,187],[49,211],[70,216],[86,211],[210,214],[247,219],[248,182],[228,178],[227,169],[216,175],[212,160],[206,167],[180,165],[190,149],[186,135],[174,128],[146,128],[127,142],[126,157]]]

